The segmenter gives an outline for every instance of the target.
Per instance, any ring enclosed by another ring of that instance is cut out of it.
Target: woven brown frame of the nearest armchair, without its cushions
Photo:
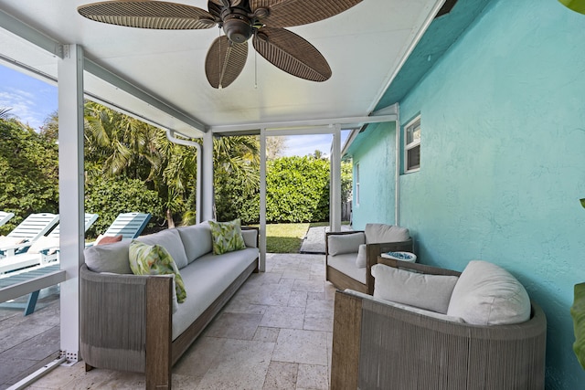
[[[378,258],[400,269],[459,272]],[[337,291],[331,388],[543,389],[547,320],[471,325]]]

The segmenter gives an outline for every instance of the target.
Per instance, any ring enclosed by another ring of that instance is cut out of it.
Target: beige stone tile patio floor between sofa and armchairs
[[[175,389],[328,389],[335,288],[324,256],[268,254],[173,368]],[[29,389],[144,388],[144,374],[59,366]]]

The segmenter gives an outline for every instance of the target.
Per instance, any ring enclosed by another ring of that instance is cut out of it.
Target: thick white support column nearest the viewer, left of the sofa
[[[83,263],[83,48],[66,45],[58,59],[58,192],[61,356],[75,363],[80,351],[80,265]]]

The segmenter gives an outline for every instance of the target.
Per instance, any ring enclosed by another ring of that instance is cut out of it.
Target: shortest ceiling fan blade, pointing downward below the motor
[[[207,51],[205,74],[213,88],[226,88],[238,78],[248,58],[248,42],[235,44],[228,37],[216,38]]]

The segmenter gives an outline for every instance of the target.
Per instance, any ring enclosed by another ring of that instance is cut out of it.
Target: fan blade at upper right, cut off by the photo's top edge
[[[269,10],[261,19],[270,27],[292,27],[318,22],[327,17],[341,14],[362,0],[250,0],[250,8]]]

